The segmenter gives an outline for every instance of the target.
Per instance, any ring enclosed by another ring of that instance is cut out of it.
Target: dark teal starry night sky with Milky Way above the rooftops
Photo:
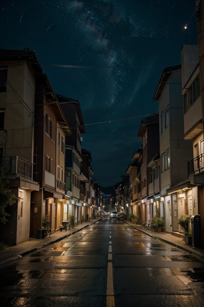
[[[195,17],[184,30],[194,0],[6,0],[0,10],[0,48],[29,47],[40,63],[98,66],[42,65],[56,93],[79,100],[85,124],[157,112],[162,69],[180,64],[183,44],[197,43]],[[141,147],[140,122],[85,126],[82,146],[99,184],[120,181]]]

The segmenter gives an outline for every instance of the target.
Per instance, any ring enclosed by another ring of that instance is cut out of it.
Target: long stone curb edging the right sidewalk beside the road
[[[127,223],[126,221],[124,221],[124,223],[126,223],[126,224],[128,224],[129,226],[131,226],[131,227],[133,227],[133,228],[135,228],[135,229],[137,229],[137,230],[139,230],[139,231],[145,233],[145,235],[148,235],[148,236],[150,236],[150,237],[153,238],[153,239],[156,239],[156,240],[162,241],[162,242],[164,242],[164,243],[170,244],[170,245],[172,245],[172,246],[178,247],[178,248],[181,249],[182,251],[185,251],[185,252],[187,252],[187,253],[189,253],[189,254],[191,254],[191,255],[194,255],[194,256],[196,256],[196,257],[198,257],[198,258],[202,258],[202,260],[204,259],[204,254],[203,254],[203,253],[201,253],[201,252],[199,252],[199,251],[195,251],[195,250],[193,250],[191,247],[183,246],[183,244],[179,244],[179,243],[176,243],[176,242],[171,241],[171,240],[167,240],[167,239],[163,239],[163,238],[157,237],[157,236],[155,236],[155,235],[151,235],[151,234],[148,233],[147,231],[144,231],[143,229],[141,229],[141,228],[139,228],[139,227],[132,226],[132,225],[130,225],[129,223]]]

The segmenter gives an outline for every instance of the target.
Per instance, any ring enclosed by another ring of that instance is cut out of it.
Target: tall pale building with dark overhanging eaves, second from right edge
[[[160,130],[160,218],[165,231],[178,230],[177,205],[171,188],[188,180],[186,161],[192,159],[192,144],[183,139],[183,98],[181,65],[163,69],[153,101],[159,102]],[[174,212],[174,214],[172,214]],[[176,219],[175,219],[176,218]]]

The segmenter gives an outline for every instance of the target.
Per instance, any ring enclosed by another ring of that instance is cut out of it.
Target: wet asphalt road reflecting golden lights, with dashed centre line
[[[108,218],[2,267],[0,280],[2,307],[204,305],[204,262]]]

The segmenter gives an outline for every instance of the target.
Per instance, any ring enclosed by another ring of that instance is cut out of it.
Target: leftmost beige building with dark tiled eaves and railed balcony
[[[18,245],[29,239],[31,192],[39,191],[33,180],[34,106],[35,75],[42,70],[33,50],[1,49],[0,55],[0,164],[18,197],[6,209],[9,227],[1,225],[0,234]]]

